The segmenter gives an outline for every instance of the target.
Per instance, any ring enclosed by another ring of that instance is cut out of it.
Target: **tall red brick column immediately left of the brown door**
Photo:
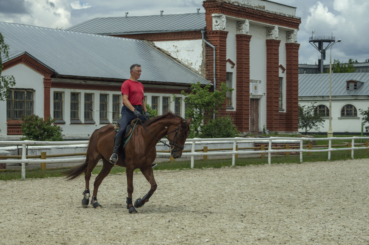
[[[250,40],[251,35],[236,35],[236,113],[235,125],[241,132],[250,131]]]

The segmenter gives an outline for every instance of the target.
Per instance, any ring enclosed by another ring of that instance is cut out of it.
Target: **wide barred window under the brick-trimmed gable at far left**
[[[34,90],[10,89],[6,100],[6,119],[21,119],[33,115]]]

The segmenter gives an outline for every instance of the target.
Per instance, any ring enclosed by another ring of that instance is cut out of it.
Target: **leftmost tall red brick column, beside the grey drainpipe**
[[[227,31],[207,31],[206,40],[215,46],[215,82],[216,89],[219,89],[221,83],[227,83]],[[205,69],[206,79],[213,81],[213,48],[206,45]],[[223,108],[218,108],[217,115],[225,116],[225,101]]]

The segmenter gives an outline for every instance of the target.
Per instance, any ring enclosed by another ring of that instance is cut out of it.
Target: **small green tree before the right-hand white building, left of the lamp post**
[[[315,103],[311,103],[311,105],[299,105],[299,128],[305,129],[305,134],[310,129],[319,130],[319,127],[323,126],[324,119],[315,112],[315,107]]]

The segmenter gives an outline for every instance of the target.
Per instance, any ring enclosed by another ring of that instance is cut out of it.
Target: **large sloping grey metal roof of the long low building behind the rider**
[[[145,41],[0,22],[12,59],[28,53],[59,75],[127,79],[141,64],[140,81],[209,84]],[[3,59],[3,62],[6,60]]]

